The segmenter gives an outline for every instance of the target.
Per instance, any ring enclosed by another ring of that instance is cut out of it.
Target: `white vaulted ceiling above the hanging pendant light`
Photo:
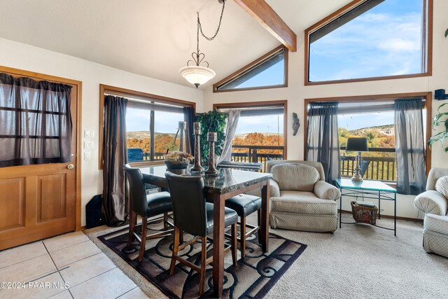
[[[267,0],[297,36],[349,2]],[[0,8],[4,39],[186,86],[178,71],[196,50],[196,12],[209,36],[221,13],[217,0],[0,0]],[[201,88],[279,44],[234,1],[226,1],[216,39],[200,37],[200,50],[216,71]]]

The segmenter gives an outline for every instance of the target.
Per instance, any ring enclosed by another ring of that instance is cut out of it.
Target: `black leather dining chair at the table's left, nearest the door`
[[[139,257],[137,261],[140,263],[143,260],[145,253],[145,246],[147,239],[155,239],[165,237],[173,232],[173,228],[169,228],[168,212],[173,210],[172,201],[169,193],[159,192],[146,195],[145,184],[143,182],[143,175],[138,168],[132,168],[130,165],[125,165],[125,173],[130,185],[130,225],[129,225],[129,239],[127,246],[132,244],[134,239],[140,244]],[[148,218],[163,214],[162,217],[152,219],[148,222]],[[136,232],[135,226],[137,224],[137,215],[141,216],[141,234]],[[148,224],[160,222],[163,219],[163,230],[155,232],[151,235],[148,233]]]

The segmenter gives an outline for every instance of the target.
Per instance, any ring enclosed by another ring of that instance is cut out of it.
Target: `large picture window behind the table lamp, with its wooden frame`
[[[332,97],[323,99],[305,99],[306,111],[312,102],[338,102],[337,125],[340,147],[340,176],[351,177],[356,165],[355,152],[346,151],[349,137],[365,137],[369,151],[362,153],[360,174],[363,179],[373,179],[395,183],[397,169],[397,140],[395,130],[394,103],[396,99],[423,101],[423,140],[427,140],[431,130],[430,93],[398,95],[372,95],[360,97]],[[307,125],[307,123],[305,123]],[[420,132],[419,132],[420,133]],[[415,148],[414,148],[415,150]],[[419,148],[426,153],[426,169],[430,169],[430,151],[428,147]]]

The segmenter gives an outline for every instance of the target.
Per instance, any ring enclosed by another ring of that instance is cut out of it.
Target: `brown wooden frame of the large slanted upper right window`
[[[335,11],[328,17],[323,18],[316,24],[305,29],[304,31],[304,85],[325,85],[325,84],[337,84],[337,83],[349,83],[349,82],[365,82],[365,81],[379,81],[379,80],[391,80],[400,78],[416,78],[416,77],[427,77],[433,74],[433,0],[422,0],[423,1],[423,30],[426,30],[426,34],[423,32],[423,60],[421,63],[426,65],[426,71],[417,74],[405,74],[405,75],[391,75],[391,76],[378,76],[378,77],[368,77],[368,78],[353,78],[353,79],[339,79],[331,81],[309,81],[309,36],[316,30],[321,29],[325,25],[328,25],[333,20],[339,18],[339,16],[344,15],[351,11],[353,8],[364,4],[368,0],[353,0],[346,6]],[[426,60],[426,61],[424,61]]]

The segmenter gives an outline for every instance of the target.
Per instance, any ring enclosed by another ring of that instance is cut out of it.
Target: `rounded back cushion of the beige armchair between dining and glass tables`
[[[298,163],[275,165],[271,172],[280,190],[312,192],[314,184],[321,178],[316,168]]]

